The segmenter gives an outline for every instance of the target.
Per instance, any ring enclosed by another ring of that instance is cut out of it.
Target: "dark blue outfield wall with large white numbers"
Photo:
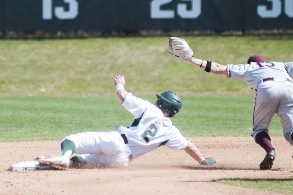
[[[0,0],[2,31],[293,29],[293,0]]]

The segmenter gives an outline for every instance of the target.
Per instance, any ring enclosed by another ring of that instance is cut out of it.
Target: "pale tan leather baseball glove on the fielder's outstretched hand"
[[[178,37],[170,37],[169,49],[172,51],[172,53],[169,53],[180,60],[189,61],[193,58],[193,51],[190,49],[187,42]]]

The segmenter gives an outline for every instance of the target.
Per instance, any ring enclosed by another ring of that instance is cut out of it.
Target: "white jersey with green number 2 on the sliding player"
[[[128,93],[122,102],[135,118],[129,127],[120,126],[118,132],[125,134],[133,158],[156,149],[161,145],[172,149],[185,149],[189,140],[184,138],[171,120],[149,101]]]

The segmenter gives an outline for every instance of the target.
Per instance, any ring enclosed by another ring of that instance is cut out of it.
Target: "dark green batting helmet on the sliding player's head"
[[[166,91],[162,94],[156,94],[156,96],[158,107],[168,111],[169,117],[175,116],[180,111],[182,100],[176,93]]]

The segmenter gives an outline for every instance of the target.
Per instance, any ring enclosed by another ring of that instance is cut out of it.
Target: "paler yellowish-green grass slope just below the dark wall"
[[[196,57],[245,63],[262,54],[291,61],[293,36],[190,36]],[[139,96],[171,89],[181,96],[254,95],[241,80],[212,75],[167,53],[169,37],[0,40],[0,96],[115,96],[123,74]]]

